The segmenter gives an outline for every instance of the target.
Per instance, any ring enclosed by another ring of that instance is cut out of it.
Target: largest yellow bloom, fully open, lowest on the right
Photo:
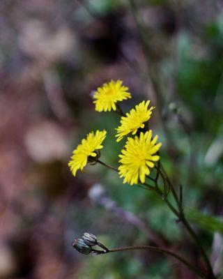
[[[140,133],[139,137],[128,137],[124,149],[121,151],[118,167],[120,177],[124,177],[123,183],[130,185],[145,182],[146,175],[150,174],[150,168],[154,167],[154,162],[160,159],[155,155],[160,149],[161,143],[157,143],[158,136],[152,139],[152,131]]]

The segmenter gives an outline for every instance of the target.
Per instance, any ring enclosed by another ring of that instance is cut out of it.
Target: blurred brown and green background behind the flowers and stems
[[[92,232],[109,248],[137,244],[199,254],[159,197],[68,160],[91,130],[108,131],[103,161],[118,165],[119,116],[91,92],[123,80],[155,105],[162,163],[183,185],[185,213],[223,266],[223,4],[221,0],[1,0],[0,278],[196,278],[151,252],[81,255]]]

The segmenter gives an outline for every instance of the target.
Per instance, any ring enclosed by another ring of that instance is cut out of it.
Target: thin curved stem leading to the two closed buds
[[[185,259],[183,259],[183,257],[180,257],[179,255],[177,255],[174,252],[171,252],[167,249],[158,248],[158,247],[154,247],[154,246],[130,246],[130,247],[121,247],[121,248],[109,249],[107,253],[109,253],[109,252],[121,252],[121,251],[126,251],[126,250],[144,250],[144,249],[155,251],[155,252],[162,252],[164,254],[170,255],[171,257],[175,257],[175,259],[178,259],[178,261],[185,264],[185,266],[187,266],[188,269],[190,269],[194,273],[196,273],[197,276],[199,276],[200,278],[206,278],[206,275],[203,272],[201,272],[199,269],[197,269],[192,264],[187,262]]]

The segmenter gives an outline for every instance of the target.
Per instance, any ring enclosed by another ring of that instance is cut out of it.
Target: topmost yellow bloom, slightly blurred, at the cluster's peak
[[[98,87],[97,91],[93,93],[93,98],[95,99],[95,110],[98,112],[107,110],[116,110],[116,103],[121,100],[126,100],[132,98],[131,94],[128,92],[128,87],[122,85],[121,80],[117,80],[103,84]]]

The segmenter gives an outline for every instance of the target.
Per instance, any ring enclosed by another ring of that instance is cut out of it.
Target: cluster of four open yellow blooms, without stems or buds
[[[117,110],[117,102],[131,98],[128,87],[123,86],[123,82],[118,80],[105,83],[93,94],[93,103],[98,112]],[[157,143],[157,135],[153,137],[152,130],[148,130],[148,120],[155,107],[149,107],[150,100],[142,101],[130,112],[121,113],[121,125],[116,128],[117,139],[119,142],[125,136],[129,136],[127,142],[119,155],[118,174],[123,178],[123,183],[130,185],[144,183],[146,176],[155,167],[155,162],[160,159],[157,152],[161,143]],[[120,108],[118,107],[120,110]],[[134,135],[134,137],[130,137]],[[78,169],[84,169],[88,162],[97,163],[100,156],[99,149],[102,149],[102,142],[105,140],[106,131],[97,130],[91,132],[86,139],[73,151],[70,162],[68,163],[72,174],[75,176]],[[100,162],[101,163],[101,162]],[[105,164],[104,164],[105,165]]]

